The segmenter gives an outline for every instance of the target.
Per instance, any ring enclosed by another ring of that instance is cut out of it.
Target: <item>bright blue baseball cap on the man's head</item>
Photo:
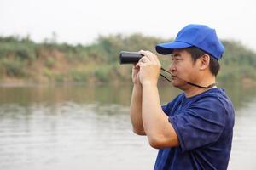
[[[155,46],[159,54],[172,54],[173,49],[195,46],[220,59],[224,53],[224,45],[218,40],[216,31],[204,25],[188,25],[177,33],[173,42],[160,43]]]

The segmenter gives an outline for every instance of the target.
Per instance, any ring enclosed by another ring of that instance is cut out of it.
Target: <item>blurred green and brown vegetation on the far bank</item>
[[[128,82],[131,65],[119,65],[119,52],[154,50],[167,42],[142,34],[98,37],[90,45],[70,45],[45,41],[32,42],[29,37],[0,37],[0,81],[11,82]],[[226,48],[220,60],[221,81],[256,80],[256,54],[239,42],[223,41]],[[163,67],[170,62],[160,58]]]

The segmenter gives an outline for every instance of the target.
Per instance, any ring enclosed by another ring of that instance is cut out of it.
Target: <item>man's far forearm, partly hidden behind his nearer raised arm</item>
[[[143,129],[143,119],[142,119],[142,98],[143,89],[141,85],[134,85],[131,95],[131,124],[134,133],[145,134]]]

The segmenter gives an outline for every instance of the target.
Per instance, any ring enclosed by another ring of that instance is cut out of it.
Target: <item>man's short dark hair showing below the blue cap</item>
[[[196,47],[185,48],[185,49],[189,52],[189,54],[191,54],[191,57],[192,57],[192,60],[194,61],[194,63],[202,55],[207,54],[207,52],[201,50],[200,48],[196,48]],[[218,75],[218,71],[220,69],[218,59],[215,59],[214,57],[212,57],[211,54],[208,54],[208,55],[210,56],[210,63],[209,63],[210,71],[212,72],[212,75],[214,75],[216,77]]]

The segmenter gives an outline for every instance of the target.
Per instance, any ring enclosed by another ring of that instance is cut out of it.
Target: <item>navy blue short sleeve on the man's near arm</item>
[[[211,144],[218,140],[225,123],[224,105],[215,98],[201,99],[169,116],[184,151]]]

